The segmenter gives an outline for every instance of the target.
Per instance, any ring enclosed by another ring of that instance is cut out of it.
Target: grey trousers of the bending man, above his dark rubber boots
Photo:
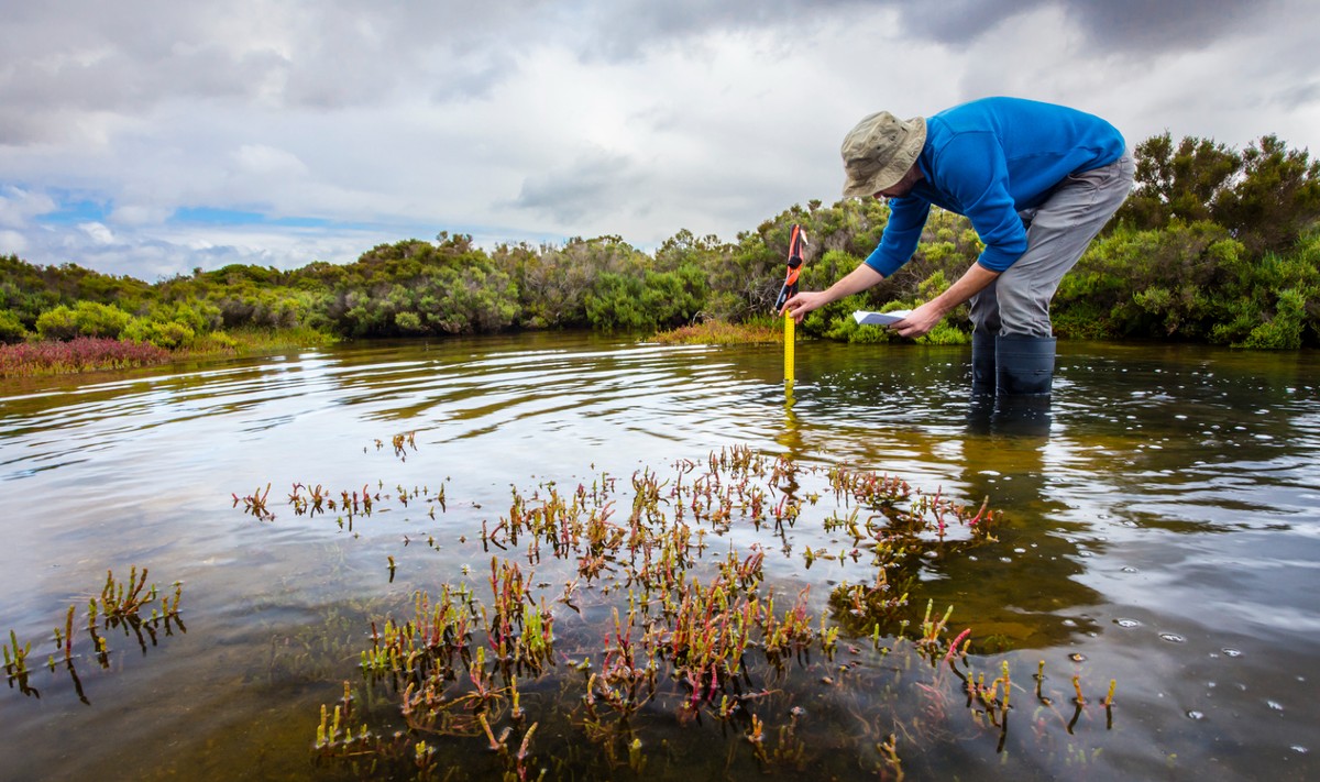
[[[975,330],[1049,337],[1049,300],[1059,281],[1122,206],[1134,173],[1131,155],[1123,155],[1106,166],[1068,176],[1039,207],[1018,213],[1027,223],[1027,251],[972,297]]]

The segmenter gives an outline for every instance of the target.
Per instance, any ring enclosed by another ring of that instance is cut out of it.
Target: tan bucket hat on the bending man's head
[[[900,120],[887,111],[869,115],[843,137],[843,198],[865,198],[895,185],[921,155],[925,118]]]

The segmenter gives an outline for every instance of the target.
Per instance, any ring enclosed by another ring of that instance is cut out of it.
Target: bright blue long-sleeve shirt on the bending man
[[[1039,206],[1068,174],[1109,165],[1123,136],[1098,116],[1020,98],[983,98],[925,120],[924,180],[890,199],[890,222],[866,264],[886,277],[912,258],[931,205],[966,215],[1002,272],[1027,250],[1018,211]]]

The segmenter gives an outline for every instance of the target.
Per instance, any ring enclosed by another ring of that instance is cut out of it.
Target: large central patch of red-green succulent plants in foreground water
[[[830,493],[834,502],[821,502]],[[434,505],[444,510],[442,493],[404,486],[335,497],[298,483],[289,497],[309,516],[351,519],[395,502],[429,502],[432,518]],[[958,692],[972,724],[995,730],[1002,749],[1016,708],[1011,666],[1001,660],[987,682],[973,668],[970,631],[950,631],[953,609],[925,600],[921,613],[912,600],[925,568],[994,546],[999,522],[987,499],[961,503],[898,477],[743,446],[678,461],[668,477],[643,468],[631,480],[513,486],[507,507],[459,538],[490,557],[483,594],[463,563],[461,581],[438,584],[434,597],[417,590],[411,616],[374,621],[362,686],[395,705],[358,715],[346,690],[322,712],[317,757],[355,765],[371,756],[436,777],[663,774],[657,764],[669,767],[672,750],[648,740],[647,725],[664,720],[741,737],[729,762],[741,753],[738,762],[763,770],[803,769],[820,752],[804,734],[803,703],[817,701],[803,695],[813,687],[828,693],[820,703],[853,715],[870,748],[863,767],[882,777],[903,775],[904,746],[948,730]],[[829,544],[795,547],[812,523]],[[830,593],[776,588],[776,548],[837,569]],[[395,555],[389,563],[393,576]],[[560,610],[573,612],[569,625]],[[906,705],[894,670],[909,671],[909,690],[925,700]],[[892,711],[876,711],[884,703]],[[391,720],[403,732],[374,727]],[[564,757],[533,753],[539,727],[586,742]],[[457,760],[473,741],[492,766]]]

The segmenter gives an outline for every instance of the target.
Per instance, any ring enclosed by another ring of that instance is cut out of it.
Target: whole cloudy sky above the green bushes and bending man
[[[156,280],[837,199],[863,115],[985,95],[1320,153],[1313,0],[119,0],[0,9],[0,254]],[[1308,32],[1311,30],[1311,32]]]

